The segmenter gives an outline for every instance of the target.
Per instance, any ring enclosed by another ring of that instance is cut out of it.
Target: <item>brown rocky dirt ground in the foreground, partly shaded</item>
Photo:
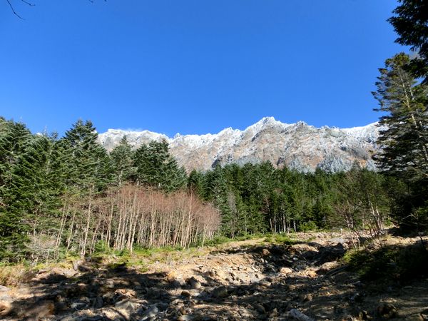
[[[428,279],[362,282],[350,238],[301,233],[141,258],[73,262],[0,286],[1,320],[428,320]],[[409,245],[417,238],[383,240]],[[428,270],[428,267],[427,267]]]

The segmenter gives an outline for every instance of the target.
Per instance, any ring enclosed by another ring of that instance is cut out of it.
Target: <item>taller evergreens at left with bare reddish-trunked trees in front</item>
[[[180,246],[218,230],[220,213],[186,190],[168,144],[110,154],[90,121],[62,138],[0,118],[0,258],[51,260],[97,248]]]

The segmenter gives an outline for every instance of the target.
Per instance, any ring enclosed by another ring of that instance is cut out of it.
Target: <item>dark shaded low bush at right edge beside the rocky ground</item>
[[[412,280],[428,275],[428,250],[419,241],[412,245],[385,245],[376,250],[350,250],[343,262],[362,280]]]

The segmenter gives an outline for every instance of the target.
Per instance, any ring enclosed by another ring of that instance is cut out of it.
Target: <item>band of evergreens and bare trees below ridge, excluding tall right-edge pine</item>
[[[271,163],[187,174],[166,141],[107,151],[91,121],[65,135],[32,134],[0,118],[1,260],[55,260],[100,249],[201,244],[317,228],[369,230],[411,213],[409,184],[355,163],[300,173]],[[409,221],[409,220],[407,220]]]

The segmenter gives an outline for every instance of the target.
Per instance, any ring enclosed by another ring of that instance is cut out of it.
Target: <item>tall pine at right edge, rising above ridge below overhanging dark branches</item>
[[[403,210],[393,212],[394,220],[402,228],[421,230],[428,227],[428,85],[417,83],[407,71],[409,61],[406,54],[397,54],[379,69],[373,95],[380,107],[375,111],[385,115],[377,142],[382,152],[375,160],[408,186],[409,192],[399,199],[402,204],[393,206]]]

